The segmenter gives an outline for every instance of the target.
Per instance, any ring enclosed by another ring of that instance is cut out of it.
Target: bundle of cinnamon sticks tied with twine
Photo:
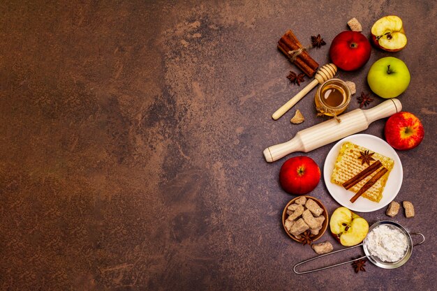
[[[293,51],[302,48],[302,44],[296,38],[295,34],[291,30],[288,30],[279,40],[278,49],[292,61],[298,68],[302,70],[308,77],[313,77],[318,68],[318,63],[314,61],[306,50],[294,55]]]

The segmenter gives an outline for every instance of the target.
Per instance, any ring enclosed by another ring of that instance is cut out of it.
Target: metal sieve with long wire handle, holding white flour
[[[341,264],[348,264],[350,262],[354,262],[356,260],[360,260],[360,259],[364,259],[364,258],[368,258],[369,261],[372,262],[372,264],[375,264],[376,266],[378,266],[380,268],[384,268],[384,269],[396,269],[396,268],[401,267],[403,264],[405,264],[408,261],[408,259],[411,256],[411,253],[413,253],[413,246],[418,246],[420,244],[423,244],[424,241],[425,241],[425,237],[424,237],[423,234],[421,234],[419,232],[411,232],[410,233],[410,232],[408,232],[408,230],[405,229],[405,227],[403,227],[399,223],[395,223],[394,221],[378,221],[377,223],[373,223],[373,225],[371,225],[371,227],[369,227],[369,232],[368,233],[370,233],[375,227],[378,227],[379,225],[387,225],[390,228],[397,229],[397,230],[401,231],[403,234],[405,234],[406,237],[407,237],[407,241],[408,241],[407,249],[406,249],[405,253],[403,254],[403,257],[400,260],[398,260],[397,262],[385,262],[385,261],[381,260],[380,258],[378,258],[377,256],[372,255],[370,253],[370,251],[369,251],[369,248],[368,248],[369,242],[368,242],[368,239],[367,239],[367,236],[366,236],[366,238],[364,238],[364,241],[361,244],[357,244],[356,246],[350,246],[349,248],[343,248],[342,250],[339,250],[339,251],[333,251],[331,253],[325,253],[324,255],[318,255],[315,258],[311,258],[309,260],[304,260],[303,262],[299,262],[299,264],[295,264],[295,267],[293,267],[293,271],[295,271],[296,274],[312,273],[314,271],[320,271],[320,270],[329,269],[329,268],[332,268],[332,267],[337,267],[337,266],[340,266]],[[420,235],[422,237],[422,241],[420,241],[417,244],[413,244],[413,239],[411,239],[411,234]],[[332,265],[329,265],[327,267],[323,267],[323,268],[319,268],[319,269],[313,269],[313,270],[309,270],[309,271],[297,271],[297,269],[296,269],[298,266],[300,266],[301,264],[305,264],[306,262],[310,262],[312,260],[323,258],[326,255],[332,255],[334,253],[339,253],[339,252],[342,252],[342,251],[347,251],[350,248],[357,248],[358,246],[362,246],[363,250],[364,250],[364,253],[366,254],[366,255],[362,256],[361,258],[350,260],[348,262],[341,262],[339,264],[332,264]]]

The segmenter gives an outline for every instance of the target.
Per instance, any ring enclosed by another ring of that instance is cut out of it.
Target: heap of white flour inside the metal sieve
[[[385,262],[397,262],[403,258],[408,240],[400,230],[379,225],[367,234],[366,246],[371,255]]]

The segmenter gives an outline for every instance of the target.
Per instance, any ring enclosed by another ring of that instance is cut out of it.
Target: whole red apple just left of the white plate
[[[320,181],[320,168],[307,156],[295,156],[283,163],[279,182],[283,190],[295,195],[313,191]]]

